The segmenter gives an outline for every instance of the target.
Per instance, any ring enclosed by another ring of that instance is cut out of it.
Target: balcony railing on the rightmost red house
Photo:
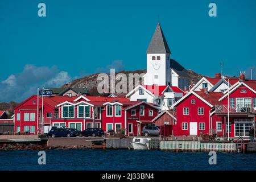
[[[256,113],[256,107],[253,107],[251,104],[248,105],[235,105],[229,106],[228,105],[215,105],[215,112],[216,114],[250,114]]]

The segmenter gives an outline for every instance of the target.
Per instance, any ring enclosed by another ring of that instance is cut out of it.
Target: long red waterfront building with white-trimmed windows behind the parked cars
[[[42,115],[42,97],[37,100],[37,96],[31,96],[14,110],[16,133],[36,134],[52,125],[80,131],[90,127],[104,131],[125,129],[127,135],[141,135],[142,127],[153,124],[159,109],[154,104],[124,97],[48,96],[44,97]]]

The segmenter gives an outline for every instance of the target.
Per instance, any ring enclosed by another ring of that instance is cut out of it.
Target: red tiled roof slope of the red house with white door
[[[208,92],[205,93],[203,91],[195,91],[197,95],[204,98],[207,102],[209,102],[211,105],[220,104],[220,101],[218,101],[224,94],[222,92]]]

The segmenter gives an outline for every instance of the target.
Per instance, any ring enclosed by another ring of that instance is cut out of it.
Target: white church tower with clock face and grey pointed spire
[[[147,48],[146,85],[171,85],[170,56],[171,51],[164,37],[160,23]]]

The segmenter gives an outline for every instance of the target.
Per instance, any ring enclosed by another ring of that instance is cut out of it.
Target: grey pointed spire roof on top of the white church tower
[[[171,53],[159,22],[146,53]]]

